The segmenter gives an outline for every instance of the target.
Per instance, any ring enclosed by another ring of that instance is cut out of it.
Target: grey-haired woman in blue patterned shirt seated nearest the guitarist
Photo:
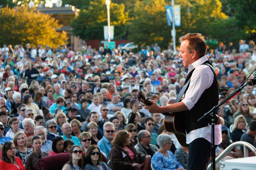
[[[157,144],[160,149],[154,154],[151,160],[155,169],[184,170],[170,151],[171,137],[168,134],[160,134],[157,137]]]

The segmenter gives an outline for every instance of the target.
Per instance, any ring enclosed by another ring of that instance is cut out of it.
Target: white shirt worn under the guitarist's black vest
[[[203,92],[213,84],[214,75],[210,67],[207,65],[201,65],[207,60],[207,57],[203,56],[188,66],[188,73],[195,68],[195,71],[191,75],[191,81],[189,83],[188,90],[186,91],[186,95],[182,100],[185,106],[188,107],[188,110],[191,110],[195,106]],[[189,144],[196,138],[200,137],[205,138],[211,143],[211,125],[192,130],[186,134],[186,143]],[[215,145],[220,144],[221,141],[221,124],[215,125]]]

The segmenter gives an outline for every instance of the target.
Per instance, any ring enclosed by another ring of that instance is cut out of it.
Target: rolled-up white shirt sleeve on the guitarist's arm
[[[199,100],[205,89],[213,84],[213,72],[207,65],[198,66],[191,76],[188,90],[182,102],[191,110]]]

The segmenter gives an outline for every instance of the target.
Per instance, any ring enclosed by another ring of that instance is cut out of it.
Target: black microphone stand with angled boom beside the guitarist
[[[252,71],[252,73],[256,70],[256,68]],[[252,73],[250,73],[250,75],[252,75]],[[250,77],[250,75],[246,78],[245,81],[248,80],[248,78]],[[256,75],[253,77],[252,80],[256,80]],[[222,106],[224,103],[226,103],[228,100],[230,100],[232,97],[234,97],[235,95],[237,95],[238,93],[241,92],[241,90],[247,85],[247,83],[245,83],[245,81],[242,82],[242,84],[233,92],[231,93],[228,97],[226,97],[223,101],[221,101],[218,105],[214,106],[210,111],[208,111],[207,113],[205,113],[201,118],[198,119],[198,122],[202,121],[203,119],[206,119],[207,117],[211,117],[211,169],[215,170],[215,157],[216,157],[216,153],[215,153],[215,129],[214,129],[214,125],[216,122],[216,118],[217,116],[217,111],[218,108],[220,106]],[[252,81],[253,83],[250,85],[255,85],[256,81]]]

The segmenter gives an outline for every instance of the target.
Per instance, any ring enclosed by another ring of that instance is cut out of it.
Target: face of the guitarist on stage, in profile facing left
[[[180,50],[179,50],[180,51],[179,57],[181,58],[184,67],[188,67],[189,64],[193,63],[192,53],[189,52],[188,43],[189,43],[188,40],[182,41],[181,42],[181,47],[180,47]]]

